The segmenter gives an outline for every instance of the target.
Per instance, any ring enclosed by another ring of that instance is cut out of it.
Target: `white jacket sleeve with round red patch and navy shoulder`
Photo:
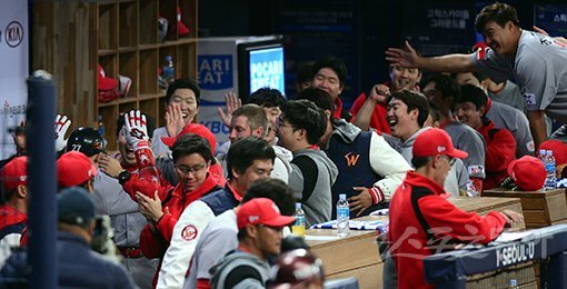
[[[163,256],[157,288],[181,288],[202,230],[216,216],[240,203],[240,193],[229,182],[223,190],[211,192],[189,205],[177,222],[171,245]]]

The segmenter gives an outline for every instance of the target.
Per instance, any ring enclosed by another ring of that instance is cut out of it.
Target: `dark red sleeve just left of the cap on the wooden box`
[[[486,149],[486,171],[505,171],[516,158],[516,139],[506,129],[499,129]]]

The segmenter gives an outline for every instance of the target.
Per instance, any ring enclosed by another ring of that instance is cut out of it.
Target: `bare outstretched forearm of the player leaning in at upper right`
[[[418,60],[418,68],[437,72],[472,72],[476,70],[469,54],[422,57]]]

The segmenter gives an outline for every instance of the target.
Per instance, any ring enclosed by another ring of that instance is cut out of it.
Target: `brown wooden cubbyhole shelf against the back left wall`
[[[198,0],[39,1],[34,3],[32,39],[48,47],[32,48],[32,69],[50,71],[58,87],[58,112],[80,126],[107,128],[107,150],[116,150],[116,120],[120,112],[140,109],[163,126],[165,91],[158,88],[159,68],[172,56],[177,77],[197,73]],[[178,36],[177,14],[189,29]],[[159,38],[158,18],[169,29]],[[58,36],[53,38],[53,36]],[[88,37],[87,37],[88,36]],[[106,76],[131,79],[128,94],[98,102],[98,66]]]

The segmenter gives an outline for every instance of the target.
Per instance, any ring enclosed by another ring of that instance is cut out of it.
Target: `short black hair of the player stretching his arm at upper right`
[[[504,27],[508,21],[519,27],[518,13],[514,7],[507,3],[491,3],[485,6],[475,19],[475,29],[479,33],[485,32],[485,27],[488,22],[496,22],[498,26]]]

